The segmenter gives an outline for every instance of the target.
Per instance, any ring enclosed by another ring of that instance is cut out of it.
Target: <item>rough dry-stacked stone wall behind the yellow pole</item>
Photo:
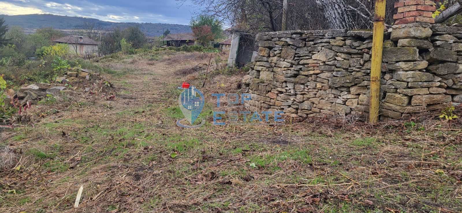
[[[256,42],[258,55],[243,79],[251,110],[367,118],[372,32],[268,32]],[[462,27],[394,25],[383,47],[380,119],[462,102]]]

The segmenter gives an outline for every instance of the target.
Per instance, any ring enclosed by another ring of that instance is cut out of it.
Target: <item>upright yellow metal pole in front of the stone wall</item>
[[[378,121],[380,101],[380,77],[382,77],[382,51],[383,51],[383,27],[385,24],[386,0],[376,0],[374,15],[374,37],[372,38],[372,64],[371,64],[371,101],[369,109],[369,121]]]

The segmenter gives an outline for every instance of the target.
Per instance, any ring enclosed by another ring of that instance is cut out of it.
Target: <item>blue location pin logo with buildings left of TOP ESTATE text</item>
[[[195,86],[191,86],[188,89],[185,89],[178,97],[178,105],[180,106],[181,112],[183,112],[186,120],[189,121],[189,124],[193,125],[197,117],[202,112],[204,108],[205,98],[199,89],[196,89]],[[182,127],[196,127],[196,126],[185,126],[176,122],[179,126]]]

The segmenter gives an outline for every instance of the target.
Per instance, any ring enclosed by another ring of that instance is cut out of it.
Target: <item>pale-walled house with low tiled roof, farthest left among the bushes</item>
[[[54,41],[67,44],[71,54],[91,55],[98,52],[99,42],[86,36],[66,36]]]

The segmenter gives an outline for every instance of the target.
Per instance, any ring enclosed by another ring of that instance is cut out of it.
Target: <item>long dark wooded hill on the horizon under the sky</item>
[[[141,30],[146,36],[161,36],[164,30],[170,30],[171,34],[192,32],[188,25],[182,24],[163,24],[163,23],[130,23],[130,22],[107,22],[95,18],[58,16],[51,14],[30,14],[30,15],[0,15],[5,18],[5,23],[10,26],[20,26],[22,28],[38,29],[52,27],[55,29],[78,29],[85,22],[94,22],[96,28],[101,30],[111,30],[116,27],[127,28],[136,24],[140,25]]]

